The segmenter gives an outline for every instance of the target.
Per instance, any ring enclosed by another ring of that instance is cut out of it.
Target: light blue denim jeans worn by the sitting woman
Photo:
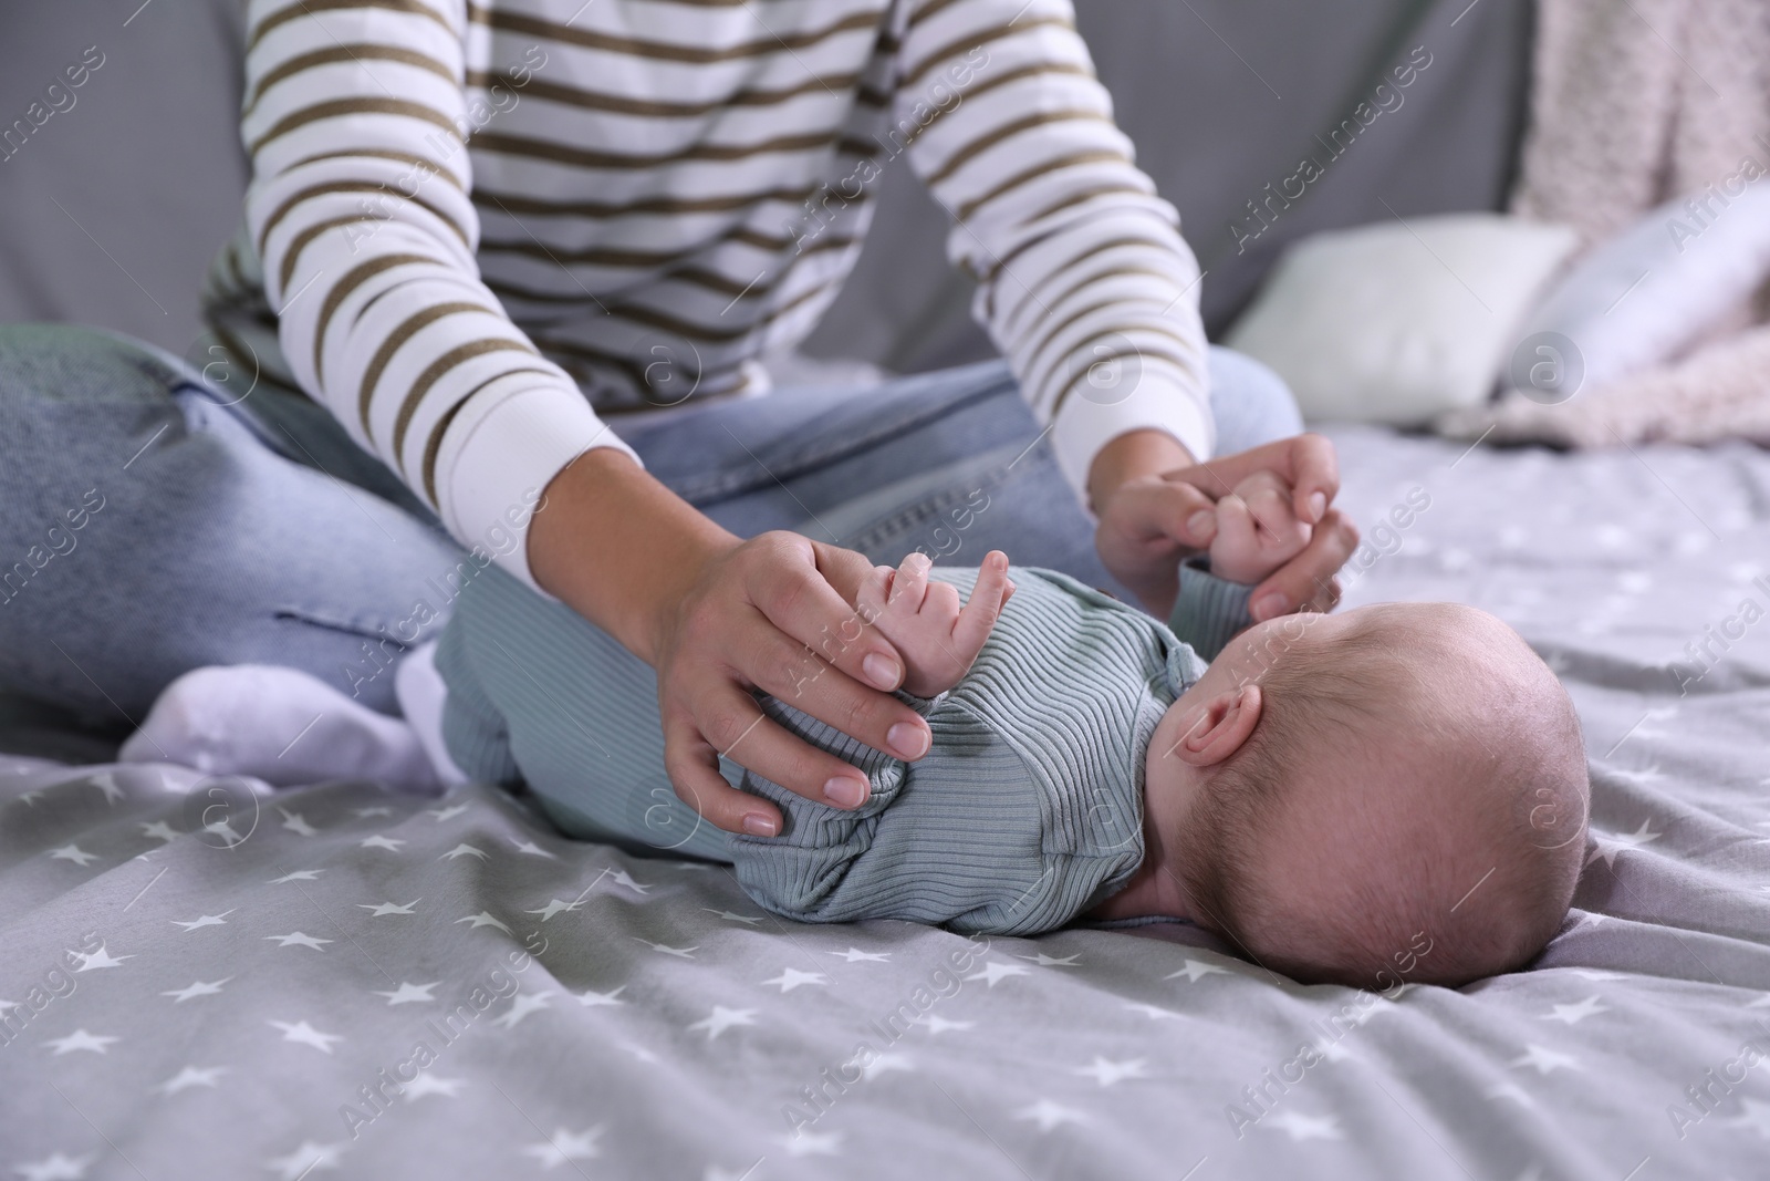
[[[1211,377],[1220,452],[1303,428],[1258,363],[1212,349]],[[396,712],[391,664],[437,632],[464,556],[322,407],[242,395],[150,345],[0,326],[0,691],[140,721],[181,673],[257,662]],[[1004,549],[1122,595],[1000,361],[616,428],[743,536]]]

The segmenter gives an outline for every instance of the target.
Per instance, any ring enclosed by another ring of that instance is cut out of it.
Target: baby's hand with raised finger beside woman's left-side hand
[[[904,659],[903,687],[917,698],[933,698],[959,683],[995,629],[1002,604],[1014,593],[1007,554],[998,549],[984,556],[963,611],[958,588],[929,581],[931,567],[920,552],[904,558],[896,570],[874,567],[855,604],[860,618],[880,629]]]

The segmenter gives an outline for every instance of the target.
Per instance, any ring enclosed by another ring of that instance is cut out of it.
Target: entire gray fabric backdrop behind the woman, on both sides
[[[115,328],[207,361],[196,292],[234,232],[237,0],[57,0],[0,16],[0,127],[60,71],[104,64],[0,159],[0,320]],[[1329,227],[1499,209],[1522,127],[1529,0],[1083,0],[1076,19],[1138,161],[1181,211],[1221,335],[1278,250]],[[1235,250],[1246,202],[1292,175],[1384,73],[1432,66],[1271,230]],[[4,154],[4,152],[0,152]],[[947,218],[897,159],[874,232],[807,352],[912,372],[993,352],[945,262]]]

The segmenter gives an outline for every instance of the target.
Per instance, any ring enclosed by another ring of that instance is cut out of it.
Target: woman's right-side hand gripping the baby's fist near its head
[[[1257,471],[1271,471],[1292,490],[1297,521],[1313,526],[1310,544],[1262,581],[1250,598],[1255,621],[1292,611],[1331,611],[1340,602],[1335,574],[1358,547],[1358,529],[1333,498],[1340,467],[1333,443],[1301,434],[1195,464],[1170,436],[1135,430],[1108,443],[1094,460],[1089,492],[1099,528],[1101,561],[1158,616],[1174,609],[1179,563],[1216,536],[1216,501]]]

